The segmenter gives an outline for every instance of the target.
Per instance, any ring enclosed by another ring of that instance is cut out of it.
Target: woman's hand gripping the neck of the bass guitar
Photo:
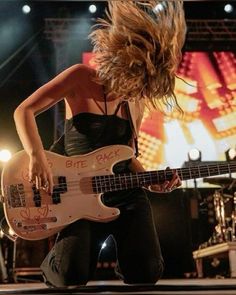
[[[168,167],[166,170],[170,170],[170,168]],[[181,179],[179,178],[177,171],[173,170],[173,177],[170,181],[165,181],[164,183],[158,185],[150,185],[148,187],[148,189],[151,192],[156,192],[156,193],[169,193],[173,190],[175,190],[176,188],[178,188],[179,186],[181,186],[182,182]]]

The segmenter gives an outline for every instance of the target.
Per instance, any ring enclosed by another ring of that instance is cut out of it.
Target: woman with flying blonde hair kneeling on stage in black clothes
[[[96,70],[74,65],[39,88],[15,111],[19,137],[29,155],[29,181],[53,190],[53,176],[35,116],[64,99],[64,150],[68,156],[97,148],[135,146],[144,105],[180,110],[174,95],[175,72],[185,38],[182,1],[108,1],[108,20],[91,34]],[[162,4],[162,6],[160,6]],[[137,158],[118,163],[114,173],[144,171]],[[169,192],[170,181],[149,189]],[[143,188],[105,193],[103,202],[120,209],[108,223],[78,220],[63,229],[41,265],[48,284],[86,284],[93,276],[102,242],[116,242],[117,274],[129,284],[154,284],[163,259],[149,200]]]

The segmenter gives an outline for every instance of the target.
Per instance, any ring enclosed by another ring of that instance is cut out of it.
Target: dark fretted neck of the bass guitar
[[[96,193],[118,191],[129,188],[162,184],[171,180],[174,171],[177,171],[181,180],[204,178],[236,172],[236,162],[224,164],[197,165],[174,170],[158,170],[137,173],[121,173],[112,175],[94,176],[92,179],[93,190]]]

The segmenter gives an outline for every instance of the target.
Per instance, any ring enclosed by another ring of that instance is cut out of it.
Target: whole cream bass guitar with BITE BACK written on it
[[[54,179],[51,196],[29,183],[29,157],[25,151],[16,153],[2,171],[6,220],[17,236],[27,240],[47,238],[78,219],[114,220],[120,211],[105,206],[102,193],[160,184],[173,176],[173,170],[114,175],[116,163],[134,157],[133,149],[124,145],[107,146],[76,157],[45,152]],[[182,180],[187,180],[236,172],[236,163],[176,170]]]

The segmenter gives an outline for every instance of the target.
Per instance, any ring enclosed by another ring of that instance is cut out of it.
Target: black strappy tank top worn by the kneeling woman
[[[105,100],[105,114],[79,113],[66,120],[64,139],[66,154],[75,156],[107,145],[128,145],[132,138],[132,128],[129,120],[117,116],[121,105],[122,103],[117,106],[114,114],[108,115]],[[124,163],[117,165],[117,169],[120,168],[122,171],[126,170]]]

